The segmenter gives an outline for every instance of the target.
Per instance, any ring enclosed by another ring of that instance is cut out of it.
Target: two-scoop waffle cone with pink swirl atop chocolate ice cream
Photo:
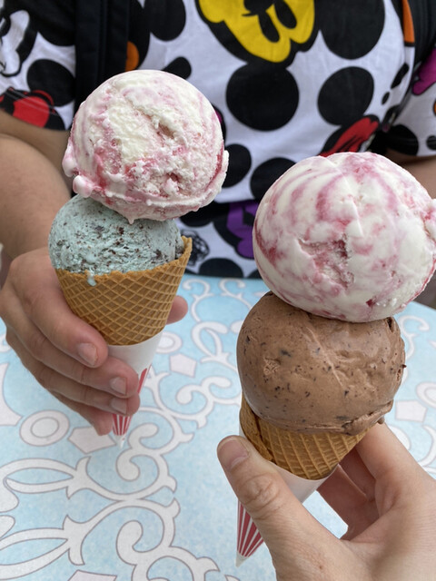
[[[302,160],[263,196],[253,253],[274,295],[239,336],[241,424],[294,478],[328,477],[391,409],[404,367],[392,315],[435,271],[435,223],[428,192],[376,153]]]

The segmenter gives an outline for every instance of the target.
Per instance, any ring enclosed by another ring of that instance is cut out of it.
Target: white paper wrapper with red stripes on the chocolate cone
[[[243,433],[243,428],[239,427],[239,433],[241,436],[245,437]],[[325,482],[327,478],[321,478],[320,480],[307,480],[306,478],[301,478],[295,476],[288,470],[276,466],[271,462],[272,466],[279,472],[283,480],[286,482],[288,487],[292,490],[295,497],[304,502],[306,498],[310,497],[312,492],[314,492],[318,487]],[[330,475],[329,475],[330,476]],[[261,537],[257,527],[254,525],[252,517],[247,513],[243,505],[238,501],[238,537],[237,537],[237,547],[236,547],[236,565],[241,565],[243,561],[252,556],[253,553],[262,545],[263,538]]]

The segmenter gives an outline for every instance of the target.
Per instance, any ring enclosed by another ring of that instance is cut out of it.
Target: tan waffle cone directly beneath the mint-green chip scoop
[[[192,250],[184,238],[182,256],[149,271],[95,275],[56,270],[71,310],[92,325],[109,345],[134,345],[163,330]]]

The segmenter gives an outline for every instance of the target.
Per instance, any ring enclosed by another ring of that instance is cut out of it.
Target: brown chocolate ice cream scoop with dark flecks
[[[253,412],[296,432],[358,434],[392,406],[404,344],[388,317],[326,319],[268,292],[243,322],[237,359]]]

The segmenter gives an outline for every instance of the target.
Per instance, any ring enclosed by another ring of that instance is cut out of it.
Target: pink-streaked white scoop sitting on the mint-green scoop
[[[178,76],[145,70],[115,75],[81,104],[63,166],[74,192],[134,222],[212,202],[227,163],[206,97]]]

